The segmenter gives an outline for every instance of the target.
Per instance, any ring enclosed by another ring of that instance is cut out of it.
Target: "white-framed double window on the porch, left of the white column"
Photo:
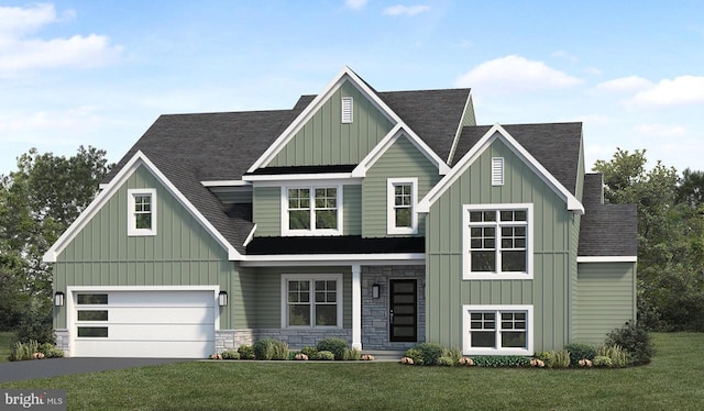
[[[341,275],[283,275],[282,327],[342,327]]]

